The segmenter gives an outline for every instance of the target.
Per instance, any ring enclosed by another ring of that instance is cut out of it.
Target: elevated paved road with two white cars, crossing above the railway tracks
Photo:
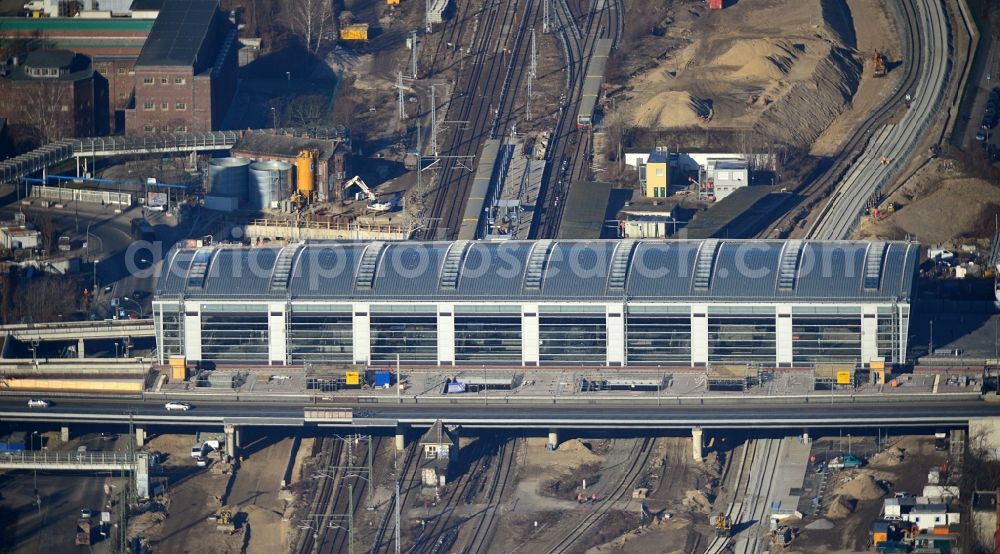
[[[335,406],[330,406],[335,407]],[[348,407],[339,405],[336,407]],[[29,410],[23,398],[0,400],[0,418],[34,421],[79,421],[103,416],[126,421],[126,412],[137,423],[165,425],[219,425],[223,420],[248,425],[298,426],[301,404],[251,404],[248,402],[200,402],[189,412],[167,412],[160,402],[140,400],[65,399],[47,410]],[[1000,403],[979,400],[938,402],[858,402],[854,404],[753,404],[635,406],[580,405],[361,405],[354,424],[391,427],[396,421],[426,425],[436,419],[470,426],[516,426],[518,428],[609,427],[685,428],[706,427],[798,427],[798,426],[891,426],[963,424],[970,417],[1000,416]]]

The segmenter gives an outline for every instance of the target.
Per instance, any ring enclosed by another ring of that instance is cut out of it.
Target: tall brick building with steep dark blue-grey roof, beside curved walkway
[[[236,92],[238,51],[218,0],[165,0],[135,63],[125,131],[218,129]]]

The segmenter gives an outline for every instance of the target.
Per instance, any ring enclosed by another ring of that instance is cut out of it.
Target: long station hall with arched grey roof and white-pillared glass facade
[[[163,363],[902,363],[912,242],[316,242],[175,249]]]

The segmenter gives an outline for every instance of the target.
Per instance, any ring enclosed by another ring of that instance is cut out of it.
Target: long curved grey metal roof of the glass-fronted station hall
[[[358,286],[363,242],[308,242],[292,262],[287,289],[271,287],[278,247],[212,251],[203,287],[186,279],[193,250],[174,250],[164,262],[159,297],[200,299],[310,298],[373,301],[891,301],[908,300],[916,273],[916,243],[889,242],[877,289],[863,286],[866,242],[805,241],[794,286],[779,290],[783,241],[724,240],[710,261],[707,287],[694,286],[702,241],[636,241],[624,290],[609,285],[619,241],[555,241],[541,289],[525,286],[533,241],[471,243],[457,286],[442,287],[449,242],[389,242],[377,258],[371,287]],[[375,252],[375,251],[373,251]],[[711,251],[707,251],[711,252]]]

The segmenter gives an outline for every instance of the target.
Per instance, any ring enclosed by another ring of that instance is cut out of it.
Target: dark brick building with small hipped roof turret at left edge
[[[0,66],[0,116],[15,140],[50,142],[94,135],[95,91],[90,58],[68,50],[36,50]]]

